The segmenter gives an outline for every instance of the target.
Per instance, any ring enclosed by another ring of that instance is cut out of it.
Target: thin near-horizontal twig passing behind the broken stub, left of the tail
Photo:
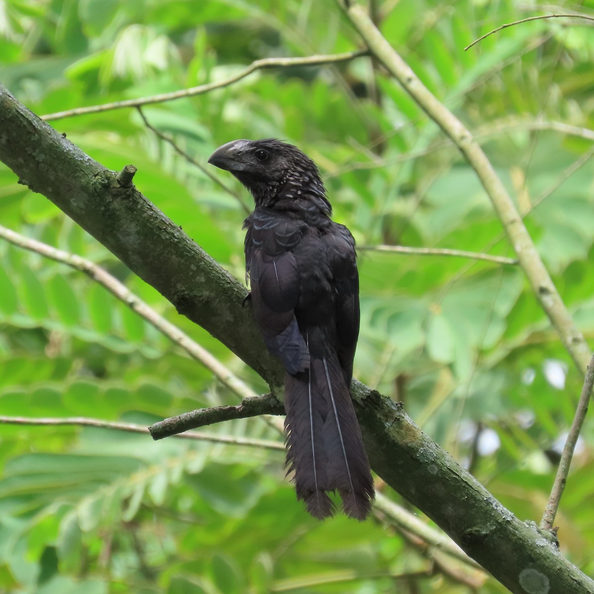
[[[28,417],[28,416],[5,416],[0,415],[0,424],[5,425],[43,425],[43,426],[62,426],[76,425],[87,427],[99,427],[101,429],[115,429],[116,431],[128,431],[132,433],[150,434],[149,429],[142,425],[134,423],[122,423],[113,421],[103,421],[102,419],[91,419],[85,416],[65,416],[65,417]],[[258,440],[248,437],[231,437],[230,435],[213,435],[209,433],[199,433],[197,431],[180,433],[173,437],[188,439],[213,441],[214,443],[224,443],[233,445],[249,445],[252,447],[267,448],[268,450],[284,450],[285,446],[277,441]]]

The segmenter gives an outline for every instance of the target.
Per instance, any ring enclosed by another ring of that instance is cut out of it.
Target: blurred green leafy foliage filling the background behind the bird
[[[511,0],[378,0],[373,7],[390,43],[482,141],[565,304],[592,336],[592,141],[554,123],[594,126],[594,32],[586,21],[536,21],[464,52],[480,34],[551,7],[534,2],[522,11]],[[554,11],[576,8],[561,2]],[[357,44],[326,0],[0,2],[0,80],[39,115],[222,80],[258,58]],[[261,71],[144,113],[201,163],[234,138],[297,144],[320,166],[335,218],[360,247],[513,256],[472,170],[368,58]],[[222,266],[244,276],[241,204],[159,140],[135,110],[53,125],[109,168],[134,163],[138,188]],[[232,185],[230,176],[213,173]],[[256,391],[266,390],[4,166],[0,223],[101,264]],[[366,249],[359,263],[356,377],[405,402],[413,420],[495,497],[538,521],[582,378],[522,271]],[[554,371],[564,381],[551,379]],[[235,401],[102,287],[0,241],[2,415],[148,425]],[[280,440],[261,419],[210,430]],[[280,452],[151,443],[92,428],[2,425],[0,435],[2,592],[468,591],[440,573],[395,582],[391,574],[423,569],[425,558],[379,519],[359,525],[342,516],[309,518],[283,479]],[[591,418],[582,438],[556,523],[563,553],[592,575]],[[318,584],[320,576],[346,579],[353,570],[347,582]],[[502,590],[494,580],[481,588]]]

